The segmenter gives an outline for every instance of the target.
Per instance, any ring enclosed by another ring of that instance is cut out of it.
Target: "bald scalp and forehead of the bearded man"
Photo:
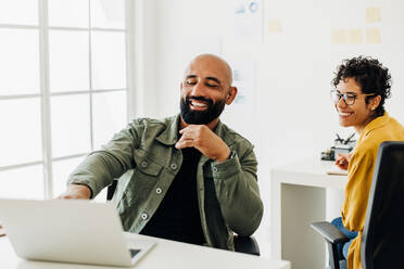
[[[200,54],[195,56],[187,66],[184,77],[193,75],[194,72],[203,72],[206,77],[215,77],[226,85],[226,88],[231,87],[232,71],[230,65],[222,57],[214,54]]]

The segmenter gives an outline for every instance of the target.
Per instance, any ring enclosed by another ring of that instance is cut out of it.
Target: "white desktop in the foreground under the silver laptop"
[[[144,235],[128,234],[130,239]],[[153,239],[154,240],[154,239]],[[175,269],[210,269],[210,268],[265,268],[290,269],[290,262],[285,260],[268,260],[248,254],[215,249],[211,247],[178,243],[168,240],[156,240],[156,245],[134,268],[175,268]],[[108,242],[105,242],[108,243]],[[0,238],[0,267],[8,269],[108,269],[117,267],[101,267],[76,264],[59,264],[31,261],[18,258],[9,240]]]

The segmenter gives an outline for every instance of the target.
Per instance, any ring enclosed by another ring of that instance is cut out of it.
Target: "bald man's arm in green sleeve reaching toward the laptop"
[[[67,190],[60,198],[92,198],[101,190],[132,168],[134,149],[137,138],[135,128],[129,125],[116,133],[101,151],[92,152],[70,175]]]

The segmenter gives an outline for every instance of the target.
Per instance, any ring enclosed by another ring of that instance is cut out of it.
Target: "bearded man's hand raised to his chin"
[[[205,125],[189,125],[179,131],[181,138],[175,144],[178,150],[195,148],[209,158],[218,163],[225,162],[230,156],[228,145]]]

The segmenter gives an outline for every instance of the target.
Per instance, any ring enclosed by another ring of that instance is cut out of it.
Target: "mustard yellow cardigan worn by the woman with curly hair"
[[[361,266],[361,240],[365,225],[367,200],[380,143],[404,141],[404,127],[388,113],[371,120],[362,131],[348,167],[349,181],[345,187],[341,215],[348,230],[357,231],[348,253],[348,268]]]

